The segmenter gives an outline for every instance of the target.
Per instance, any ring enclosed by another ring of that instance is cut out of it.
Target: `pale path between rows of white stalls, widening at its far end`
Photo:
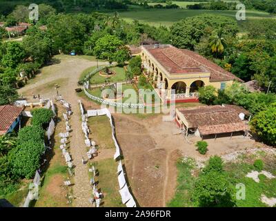
[[[58,89],[59,94],[63,96],[72,106],[72,112],[74,113],[70,117],[70,124],[72,126],[72,133],[70,137],[70,155],[72,156],[73,164],[75,165],[75,177],[73,193],[75,200],[73,201],[73,206],[86,207],[91,206],[88,201],[91,197],[92,189],[90,187],[90,180],[88,175],[88,166],[82,164],[81,158],[86,159],[86,146],[83,142],[84,136],[81,130],[81,115],[79,111],[78,99],[79,97],[75,93],[75,88],[77,88],[77,81],[79,76],[91,66],[97,66],[94,61],[88,61],[85,59],[78,59],[77,57],[72,57],[72,59],[61,60],[60,64],[55,64],[52,66],[47,66],[42,69],[41,75],[37,76],[34,84],[29,84],[24,88],[19,90],[19,93],[30,94],[30,91],[37,90],[37,88],[45,87],[49,82],[55,81],[57,79],[68,79],[68,83],[61,85]],[[47,75],[43,76],[43,72]],[[53,98],[56,94],[55,88],[50,88],[47,93],[41,95],[44,98]],[[32,100],[32,97],[28,97]]]

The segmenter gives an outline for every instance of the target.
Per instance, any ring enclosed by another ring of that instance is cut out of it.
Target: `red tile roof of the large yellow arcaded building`
[[[210,73],[210,81],[229,81],[233,79],[242,81],[242,79],[198,55],[196,52],[175,48],[170,45],[159,48],[144,47],[171,74]]]

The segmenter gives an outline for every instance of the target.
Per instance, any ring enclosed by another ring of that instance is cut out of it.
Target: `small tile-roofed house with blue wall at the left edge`
[[[14,131],[20,124],[23,107],[4,105],[0,106],[0,136]]]

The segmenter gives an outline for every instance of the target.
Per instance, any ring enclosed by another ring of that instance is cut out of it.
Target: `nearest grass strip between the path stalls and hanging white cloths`
[[[97,188],[100,189],[101,193],[103,193],[101,206],[126,207],[121,202],[121,196],[119,194],[119,184],[117,178],[118,163],[115,162],[113,158],[110,158],[90,163],[90,166],[92,165],[99,171],[99,176],[96,177],[96,180],[99,181]]]

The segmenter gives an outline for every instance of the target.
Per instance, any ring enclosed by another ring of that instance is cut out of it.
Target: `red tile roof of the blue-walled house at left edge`
[[[0,106],[0,135],[7,133],[15,119],[21,114],[23,107],[4,105]]]

